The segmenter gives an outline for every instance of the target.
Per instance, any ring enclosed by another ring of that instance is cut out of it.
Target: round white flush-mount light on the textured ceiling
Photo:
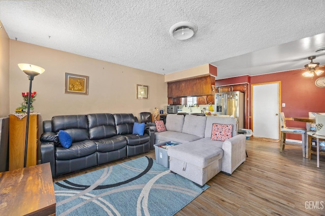
[[[198,26],[192,22],[178,22],[174,24],[169,33],[177,40],[187,40],[191,38],[198,30]]]

